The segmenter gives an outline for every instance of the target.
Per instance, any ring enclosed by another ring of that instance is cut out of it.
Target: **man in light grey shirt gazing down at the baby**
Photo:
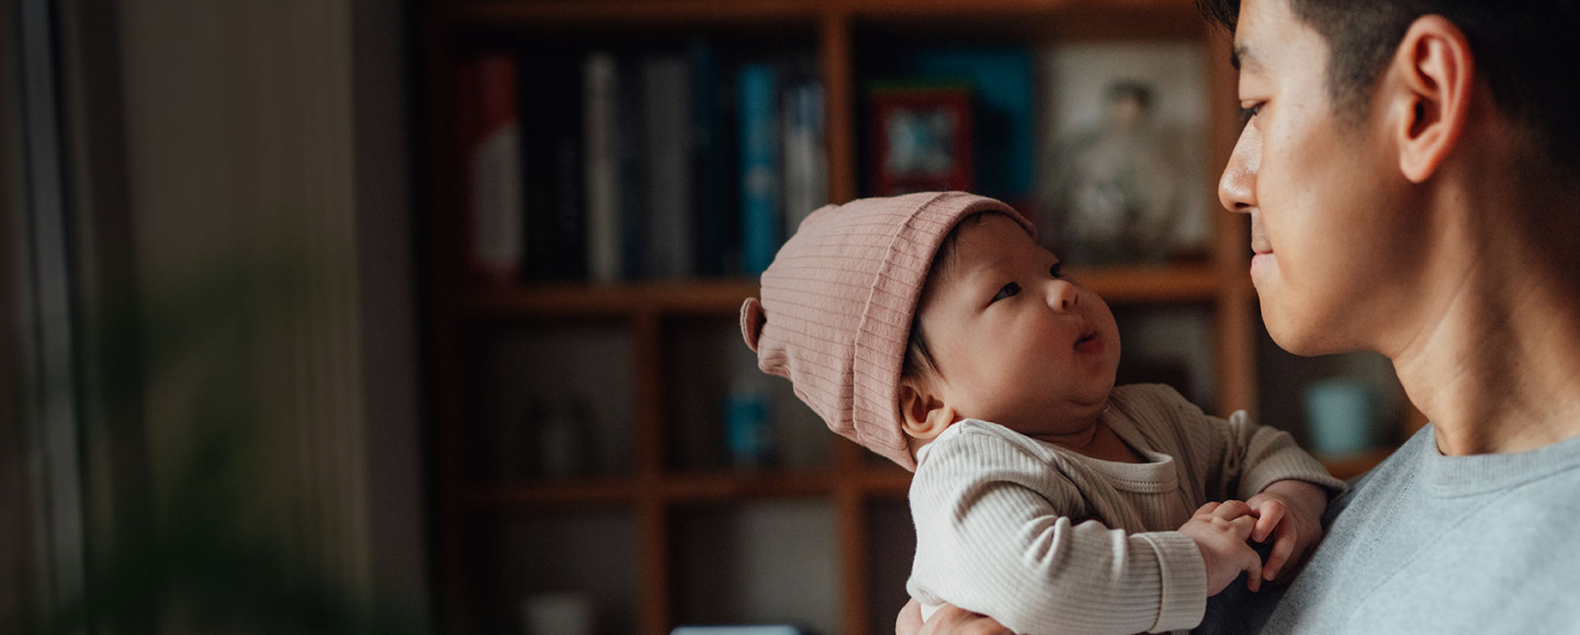
[[[1251,218],[1267,330],[1389,355],[1433,422],[1334,501],[1289,588],[1215,597],[1202,630],[1575,632],[1580,5],[1202,5],[1234,30],[1220,197]]]

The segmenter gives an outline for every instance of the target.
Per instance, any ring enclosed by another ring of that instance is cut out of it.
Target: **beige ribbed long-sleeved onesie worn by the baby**
[[[1177,532],[1207,501],[1277,480],[1332,479],[1288,433],[1210,417],[1166,385],[1122,385],[1103,422],[1147,463],[1112,463],[964,420],[918,452],[916,559],[907,589],[1024,635],[1191,629],[1207,603],[1196,543]]]

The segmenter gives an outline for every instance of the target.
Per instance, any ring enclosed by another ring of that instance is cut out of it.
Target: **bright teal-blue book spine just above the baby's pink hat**
[[[779,95],[773,66],[741,66],[741,273],[757,278],[779,251],[784,216],[779,209]]]

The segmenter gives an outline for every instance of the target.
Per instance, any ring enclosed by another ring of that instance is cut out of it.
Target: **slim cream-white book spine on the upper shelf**
[[[619,70],[615,55],[594,52],[581,66],[586,114],[586,272],[594,283],[624,276],[619,175]]]

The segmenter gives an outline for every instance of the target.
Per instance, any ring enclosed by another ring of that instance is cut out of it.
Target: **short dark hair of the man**
[[[1580,175],[1580,2],[1283,0],[1329,46],[1327,95],[1348,122],[1370,112],[1378,76],[1420,16],[1454,22],[1493,101],[1523,128],[1540,160]],[[1231,33],[1240,0],[1196,0]]]

